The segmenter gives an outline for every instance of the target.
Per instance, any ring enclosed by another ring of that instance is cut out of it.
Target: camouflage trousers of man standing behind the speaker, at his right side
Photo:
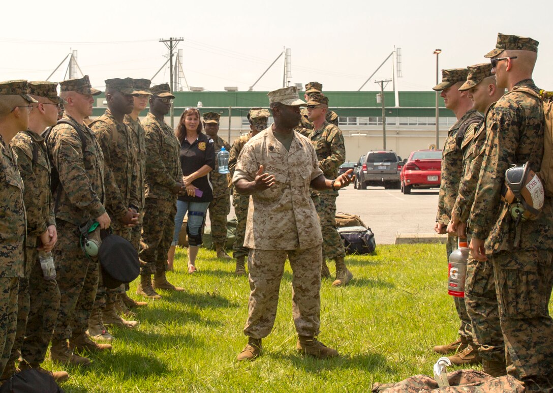
[[[336,197],[338,195],[320,193],[312,196],[322,232],[322,256],[328,260],[345,257],[344,244],[336,229]]]

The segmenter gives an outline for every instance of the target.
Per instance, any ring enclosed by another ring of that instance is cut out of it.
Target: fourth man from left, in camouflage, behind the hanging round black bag
[[[121,203],[137,214],[138,221],[137,151],[134,148],[131,127],[123,121],[124,116],[131,113],[134,108],[132,79],[115,78],[107,79],[105,82],[106,112],[92,121],[88,127],[95,133],[100,143],[105,166],[113,173],[115,187],[121,195]],[[131,227],[123,223],[116,212],[108,209],[108,213],[114,218],[111,223],[113,233],[131,241]],[[118,296],[125,292],[124,285],[113,289],[106,288],[102,283],[101,274],[99,280],[93,317],[88,322],[89,333],[93,337],[97,335],[102,338],[109,337],[102,332],[105,330],[103,322],[126,328],[134,328],[138,325],[137,321],[124,320],[117,314]],[[100,313],[103,313],[102,317]],[[95,330],[94,333],[92,333],[93,330]]]

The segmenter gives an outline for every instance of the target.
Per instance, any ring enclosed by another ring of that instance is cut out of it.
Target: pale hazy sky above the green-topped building
[[[523,4],[530,7],[524,9]],[[168,53],[160,38],[182,37],[187,83],[206,90],[247,90],[283,48],[291,49],[291,83],[319,81],[324,90],[357,90],[401,48],[398,90],[430,90],[440,69],[488,61],[497,33],[540,42],[534,80],[553,90],[552,1],[92,1],[4,2],[0,80],[44,80],[70,53],[92,85],[111,77],[150,79]],[[66,63],[50,79],[64,77]],[[282,87],[284,56],[254,90]],[[390,79],[390,60],[374,80]],[[169,81],[168,69],[154,83]],[[182,84],[185,82],[182,80]],[[387,90],[390,90],[390,84]]]

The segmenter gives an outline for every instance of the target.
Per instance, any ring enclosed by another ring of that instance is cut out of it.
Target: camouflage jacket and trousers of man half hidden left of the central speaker
[[[265,127],[266,128],[266,127]],[[228,172],[230,178],[234,175],[234,169],[238,161],[238,156],[242,148],[249,141],[250,134],[241,135],[232,143],[231,152],[228,158]],[[234,206],[234,214],[236,214],[236,237],[232,249],[234,250],[232,257],[247,256],[248,249],[244,247],[244,235],[246,235],[246,220],[248,218],[249,195],[240,195],[235,188],[232,190],[232,205]]]

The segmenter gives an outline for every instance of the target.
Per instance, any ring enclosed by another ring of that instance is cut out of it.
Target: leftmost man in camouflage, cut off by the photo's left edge
[[[23,180],[17,156],[9,143],[18,131],[27,129],[27,105],[36,102],[27,95],[27,81],[0,82],[0,372],[7,379],[15,366],[7,366],[17,328],[19,280],[25,275],[27,217]],[[13,106],[13,110],[9,107]],[[4,371],[6,368],[6,371]],[[3,381],[2,381],[3,382]]]

